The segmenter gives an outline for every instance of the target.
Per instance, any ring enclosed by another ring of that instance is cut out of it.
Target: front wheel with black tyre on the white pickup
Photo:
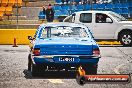
[[[123,46],[132,46],[132,32],[124,31],[119,35],[119,40]]]

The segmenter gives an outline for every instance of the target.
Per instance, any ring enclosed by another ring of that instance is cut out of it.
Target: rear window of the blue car
[[[85,28],[69,27],[69,26],[45,27],[42,29],[40,34],[40,38],[56,38],[56,37],[84,38],[84,37],[88,37],[88,34]]]

